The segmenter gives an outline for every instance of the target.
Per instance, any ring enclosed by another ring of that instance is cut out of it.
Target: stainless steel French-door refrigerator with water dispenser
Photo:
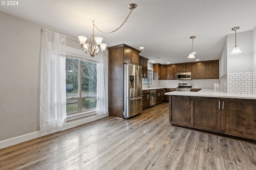
[[[128,119],[141,112],[142,66],[124,64],[124,118]]]

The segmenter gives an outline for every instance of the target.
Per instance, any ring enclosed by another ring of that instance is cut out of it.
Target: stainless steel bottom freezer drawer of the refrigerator
[[[124,118],[128,119],[142,112],[142,96],[126,98],[124,104]]]

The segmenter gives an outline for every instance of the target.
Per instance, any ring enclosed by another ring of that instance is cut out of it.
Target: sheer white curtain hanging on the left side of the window
[[[66,123],[66,37],[42,29],[40,130]]]

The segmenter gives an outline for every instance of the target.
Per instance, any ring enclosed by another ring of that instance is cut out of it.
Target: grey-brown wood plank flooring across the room
[[[256,145],[171,126],[168,103],[0,150],[1,170],[256,170]]]

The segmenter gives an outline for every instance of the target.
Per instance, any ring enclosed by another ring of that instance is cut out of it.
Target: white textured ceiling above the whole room
[[[3,12],[78,36],[90,37],[92,20],[104,32],[107,47],[127,44],[155,63],[185,63],[193,51],[200,61],[220,58],[226,35],[249,31],[256,26],[256,0],[22,0],[18,6],[2,6]],[[77,39],[78,40],[78,39]],[[239,46],[239,39],[237,39]],[[214,50],[213,50],[214,49]],[[232,49],[229,49],[231,52]]]

